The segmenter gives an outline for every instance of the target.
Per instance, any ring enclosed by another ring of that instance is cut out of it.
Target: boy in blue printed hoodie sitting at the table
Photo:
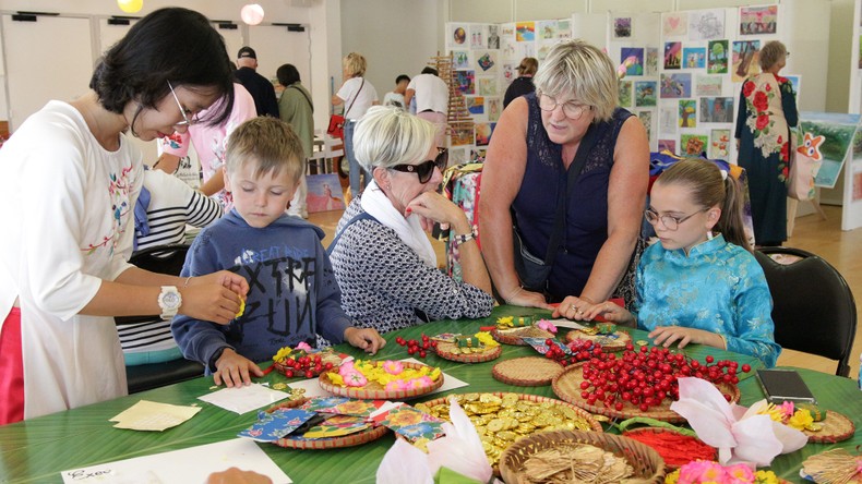
[[[234,209],[201,231],[182,276],[219,269],[244,276],[246,308],[227,326],[188,316],[171,323],[182,354],[203,363],[216,385],[248,385],[251,376],[263,376],[256,363],[282,347],[315,346],[318,335],[371,354],[385,344],[374,329],[354,327],[342,310],[323,230],[285,214],[302,159],[299,138],[275,118],[249,120],[228,140],[224,176]]]

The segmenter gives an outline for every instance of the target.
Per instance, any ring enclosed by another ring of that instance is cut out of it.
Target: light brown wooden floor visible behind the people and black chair
[[[798,218],[793,235],[785,245],[812,252],[834,265],[850,285],[857,300],[857,312],[862,314],[862,229],[842,232],[840,207],[824,206],[823,208],[826,213],[826,220],[821,220],[817,215]],[[323,228],[326,232],[324,245],[328,245],[328,241],[332,240],[335,226],[340,217],[342,211],[311,214],[309,217],[312,223]],[[438,241],[432,241],[432,244],[436,250],[438,261],[445,261],[443,244]],[[862,330],[857,331],[853,355],[850,360],[850,376],[853,378],[859,375],[860,353],[862,353]],[[793,350],[782,351],[778,364],[812,368],[824,373],[835,373],[837,365],[835,361]]]

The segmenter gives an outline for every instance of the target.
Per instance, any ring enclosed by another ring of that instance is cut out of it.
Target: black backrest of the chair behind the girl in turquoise
[[[799,259],[781,264],[770,257],[775,254]],[[822,257],[800,249],[762,247],[754,256],[773,294],[776,342],[838,360],[835,374],[848,376],[857,307],[845,278]]]

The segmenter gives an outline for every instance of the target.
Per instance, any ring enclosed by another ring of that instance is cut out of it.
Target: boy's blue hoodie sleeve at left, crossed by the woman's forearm
[[[192,242],[189,253],[185,255],[185,265],[182,267],[182,277],[203,276],[220,270],[215,254],[209,254],[207,249],[212,247],[209,234],[204,229],[201,234]],[[220,328],[224,326],[215,323],[194,319],[190,316],[178,314],[170,323],[170,332],[177,340],[177,346],[182,351],[187,360],[202,363],[209,372],[209,359],[219,348],[231,348],[227,343],[225,334]]]

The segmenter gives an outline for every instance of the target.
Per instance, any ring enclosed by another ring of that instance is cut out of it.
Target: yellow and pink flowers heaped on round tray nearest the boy
[[[395,391],[429,387],[440,378],[440,368],[424,365],[420,368],[410,368],[399,361],[373,362],[348,359],[338,367],[338,373],[330,373],[330,379],[342,387],[364,387],[376,383],[386,391]]]

